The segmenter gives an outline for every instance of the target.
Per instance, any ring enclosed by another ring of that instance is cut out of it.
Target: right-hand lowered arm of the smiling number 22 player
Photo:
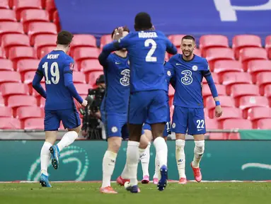
[[[208,86],[211,90],[214,101],[216,103],[216,109],[215,109],[216,117],[219,118],[222,115],[222,108],[221,108],[220,102],[219,102],[219,94],[217,93],[217,87],[214,84],[214,79],[213,79],[212,74],[209,70],[209,64],[207,61],[206,61],[206,69],[204,70],[203,76],[205,77],[205,79],[208,83]]]

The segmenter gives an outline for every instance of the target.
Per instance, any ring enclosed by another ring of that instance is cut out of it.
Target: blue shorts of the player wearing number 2
[[[129,98],[129,123],[143,124],[149,120],[150,124],[166,123],[168,121],[166,91],[139,91]]]

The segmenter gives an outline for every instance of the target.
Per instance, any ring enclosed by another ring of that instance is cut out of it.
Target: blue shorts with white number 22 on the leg
[[[188,135],[202,135],[206,133],[203,108],[174,107],[172,131]]]

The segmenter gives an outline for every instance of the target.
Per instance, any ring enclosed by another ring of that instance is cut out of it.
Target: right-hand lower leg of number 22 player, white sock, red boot
[[[197,182],[202,181],[202,173],[200,171],[200,160],[204,153],[204,135],[193,135],[195,140],[194,159],[191,167]]]

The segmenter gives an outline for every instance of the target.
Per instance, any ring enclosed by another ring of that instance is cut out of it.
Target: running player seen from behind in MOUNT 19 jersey
[[[82,106],[87,101],[79,96],[72,81],[74,60],[66,53],[69,50],[71,40],[74,37],[68,31],[61,31],[57,35],[57,48],[45,55],[40,60],[38,69],[33,79],[33,88],[46,98],[45,101],[45,143],[40,151],[41,176],[40,184],[43,187],[51,187],[48,180],[47,166],[52,157],[52,166],[57,169],[59,166],[59,152],[64,147],[71,145],[80,132],[81,120],[76,111],[74,98]],[[45,90],[40,81],[45,77]],[[57,130],[62,121],[64,128],[69,131],[62,137],[57,145]]]

